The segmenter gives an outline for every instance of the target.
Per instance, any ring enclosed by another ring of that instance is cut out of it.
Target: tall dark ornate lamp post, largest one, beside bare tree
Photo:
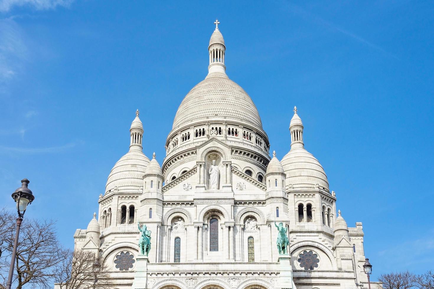
[[[9,277],[7,278],[6,289],[10,289],[12,285],[13,269],[16,258],[16,246],[18,245],[18,236],[20,235],[21,222],[23,221],[24,213],[26,212],[27,205],[30,205],[35,199],[32,191],[27,187],[30,181],[28,179],[21,180],[21,187],[17,188],[12,194],[12,198],[16,202],[16,210],[18,211],[18,218],[16,218],[16,234],[15,242],[13,243],[12,258],[10,259]]]

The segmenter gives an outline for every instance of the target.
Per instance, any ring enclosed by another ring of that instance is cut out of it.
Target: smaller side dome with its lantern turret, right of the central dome
[[[319,161],[304,148],[303,123],[294,107],[289,124],[291,150],[282,159],[286,173],[286,185],[290,190],[319,188],[329,192],[329,182]]]

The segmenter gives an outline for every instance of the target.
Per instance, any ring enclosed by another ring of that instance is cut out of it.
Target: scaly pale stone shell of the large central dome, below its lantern
[[[226,75],[208,75],[184,97],[173,122],[173,129],[206,117],[237,119],[262,129],[259,112],[250,96]]]

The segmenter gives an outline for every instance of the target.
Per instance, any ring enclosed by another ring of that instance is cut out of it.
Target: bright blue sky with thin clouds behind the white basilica
[[[289,151],[296,105],[337,208],[363,222],[374,279],[434,269],[434,4],[236,2],[0,0],[0,204],[30,179],[26,216],[57,219],[72,247],[136,109],[144,152],[161,164],[218,17],[227,74],[255,102],[271,151]]]

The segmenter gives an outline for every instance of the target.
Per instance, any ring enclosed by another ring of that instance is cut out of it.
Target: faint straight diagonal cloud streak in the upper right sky
[[[379,45],[376,45],[375,43],[372,43],[371,41],[368,41],[367,39],[363,38],[362,36],[359,36],[359,35],[357,35],[357,34],[355,34],[353,32],[350,32],[350,31],[348,31],[346,29],[343,29],[342,27],[340,27],[340,26],[338,26],[338,25],[336,25],[336,24],[334,24],[334,23],[332,23],[330,21],[322,19],[321,17],[310,13],[309,11],[303,9],[300,6],[297,6],[297,5],[292,4],[292,3],[288,3],[288,5],[289,5],[289,7],[290,7],[291,10],[293,10],[294,12],[302,15],[305,18],[312,19],[313,21],[315,21],[315,22],[317,22],[317,23],[319,23],[319,24],[321,24],[323,26],[327,26],[327,27],[329,27],[332,30],[340,32],[340,33],[342,33],[342,34],[344,34],[346,36],[349,36],[350,38],[354,39],[357,42],[360,42],[360,43],[362,43],[364,45],[367,45],[368,47],[370,47],[372,49],[375,49],[375,50],[377,50],[377,51],[379,51],[379,52],[381,52],[381,53],[389,56],[389,57],[392,57],[392,58],[395,58],[395,59],[399,60],[399,58],[396,55],[394,55],[394,54],[386,51],[385,49],[382,49]]]

